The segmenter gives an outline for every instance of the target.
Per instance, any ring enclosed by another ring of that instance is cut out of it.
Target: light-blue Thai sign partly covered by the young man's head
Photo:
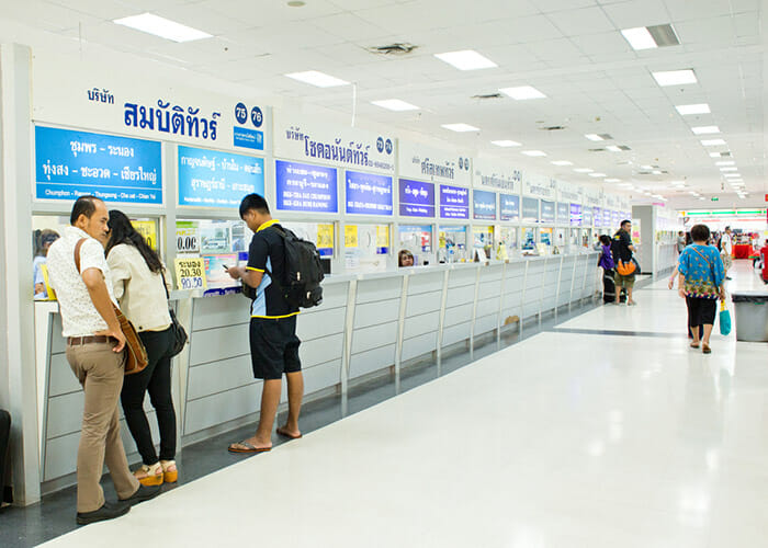
[[[179,146],[179,205],[239,207],[246,194],[264,194],[264,160]]]

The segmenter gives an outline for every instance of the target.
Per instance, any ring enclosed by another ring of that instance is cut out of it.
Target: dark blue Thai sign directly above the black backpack
[[[336,168],[275,160],[274,184],[278,209],[339,212]]]

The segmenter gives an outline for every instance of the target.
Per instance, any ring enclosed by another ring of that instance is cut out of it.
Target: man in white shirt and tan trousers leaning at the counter
[[[104,258],[108,220],[101,199],[81,196],[72,207],[71,226],[50,246],[47,260],[67,339],[67,361],[86,395],[77,457],[77,523],[81,525],[123,515],[132,504],[160,492],[159,487],[140,486],[131,473],[120,437],[125,336],[112,308],[112,279]],[[78,272],[75,248],[80,240]],[[104,501],[100,484],[104,463],[117,491],[116,504]]]

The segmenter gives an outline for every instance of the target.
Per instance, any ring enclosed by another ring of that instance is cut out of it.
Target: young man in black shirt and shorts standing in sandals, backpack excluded
[[[301,341],[296,336],[296,315],[298,306],[306,307],[307,304],[294,298],[291,287],[295,285],[296,277],[302,278],[301,274],[295,273],[296,269],[300,272],[302,269],[296,260],[296,243],[307,242],[297,240],[291,231],[283,229],[278,219],[270,215],[267,201],[258,194],[242,198],[240,218],[253,231],[248,265],[231,266],[227,273],[235,279],[241,279],[244,287],[256,289],[251,295],[250,354],[253,376],[263,379],[263,387],[256,434],[230,444],[228,450],[255,454],[272,448],[272,425],[280,403],[283,373],[287,378],[289,415],[285,424],[278,429],[278,434],[291,439],[302,437],[298,413],[304,395],[304,377],[298,359]],[[317,261],[319,265],[319,258]],[[316,290],[321,294],[319,282]],[[314,304],[318,302],[308,305]]]

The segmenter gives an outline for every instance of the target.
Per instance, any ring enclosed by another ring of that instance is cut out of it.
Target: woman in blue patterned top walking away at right
[[[710,334],[718,313],[718,298],[725,300],[725,269],[718,248],[708,246],[710,229],[707,225],[696,225],[691,228],[692,246],[680,253],[678,272],[678,292],[686,299],[689,310],[689,322],[693,332],[691,349],[700,345],[704,354],[710,349]],[[699,326],[703,326],[704,335],[699,340]]]

